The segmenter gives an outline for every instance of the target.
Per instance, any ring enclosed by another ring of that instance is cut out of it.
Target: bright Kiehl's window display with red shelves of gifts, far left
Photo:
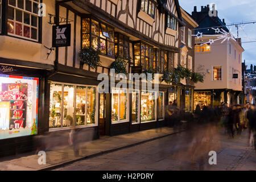
[[[39,78],[0,75],[0,139],[38,133]]]

